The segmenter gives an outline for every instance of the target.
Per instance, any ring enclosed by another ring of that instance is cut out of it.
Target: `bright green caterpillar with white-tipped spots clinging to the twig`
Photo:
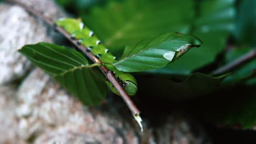
[[[93,53],[95,57],[100,59],[102,64],[104,64],[108,70],[113,71],[115,78],[119,81],[120,85],[125,89],[128,95],[136,94],[137,82],[135,78],[129,73],[119,71],[112,65],[112,63],[117,62],[117,58],[101,44],[101,41],[96,37],[94,32],[92,32],[88,27],[85,27],[84,23],[80,19],[61,18],[55,21],[55,25],[65,29],[69,34],[71,34],[72,39],[78,40],[78,45],[82,44],[87,47],[86,51]],[[106,79],[106,83],[112,92],[120,95],[108,79]]]

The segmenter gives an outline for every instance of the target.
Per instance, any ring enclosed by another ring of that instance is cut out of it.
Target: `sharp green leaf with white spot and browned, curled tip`
[[[167,33],[126,47],[123,56],[113,65],[120,71],[138,72],[165,67],[176,61],[201,41],[191,35]]]

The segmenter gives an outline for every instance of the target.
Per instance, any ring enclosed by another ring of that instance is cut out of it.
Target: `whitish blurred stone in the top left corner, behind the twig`
[[[24,3],[36,5],[37,10],[47,11],[45,15],[54,16],[54,19],[58,16],[63,17],[63,13],[56,8],[53,1],[27,0]],[[2,85],[20,79],[31,67],[30,62],[17,51],[26,44],[35,44],[39,41],[51,42],[49,35],[53,36],[53,31],[21,7],[4,3],[0,4],[0,26],[0,85]]]

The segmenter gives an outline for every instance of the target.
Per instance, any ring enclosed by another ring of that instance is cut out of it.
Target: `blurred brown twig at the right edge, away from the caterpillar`
[[[254,48],[252,51],[246,53],[245,55],[241,56],[240,58],[235,59],[235,61],[232,61],[232,62],[224,65],[223,67],[220,67],[220,68],[212,71],[211,74],[218,75],[218,74],[227,73],[227,72],[234,70],[234,69],[240,67],[241,65],[251,61],[255,57],[256,57],[256,48]]]

